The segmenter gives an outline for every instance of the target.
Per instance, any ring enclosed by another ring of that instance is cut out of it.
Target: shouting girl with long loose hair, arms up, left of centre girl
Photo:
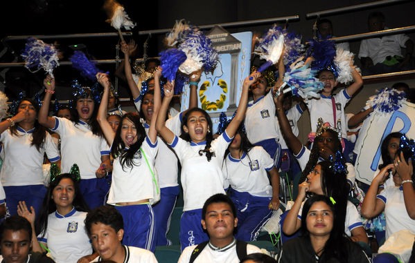
[[[104,73],[98,73],[97,78],[104,87],[98,122],[107,142],[112,145],[111,155],[114,157],[107,204],[116,206],[123,215],[123,244],[154,251],[154,213],[151,204],[157,202],[155,193],[160,191],[157,173],[154,172],[158,149],[155,121],[159,106],[154,105],[148,135],[137,113],[123,115],[121,126],[114,133],[106,117],[109,80]]]

